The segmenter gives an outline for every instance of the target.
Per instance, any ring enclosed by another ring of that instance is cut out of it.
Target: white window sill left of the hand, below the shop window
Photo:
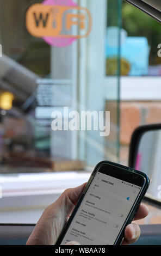
[[[83,184],[90,174],[82,171],[0,175],[0,223],[35,224],[66,188]]]

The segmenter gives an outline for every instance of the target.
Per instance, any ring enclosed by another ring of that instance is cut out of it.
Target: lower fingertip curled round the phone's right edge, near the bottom
[[[139,239],[141,234],[140,227],[138,224],[129,224],[125,229],[125,239],[122,245],[130,245]]]

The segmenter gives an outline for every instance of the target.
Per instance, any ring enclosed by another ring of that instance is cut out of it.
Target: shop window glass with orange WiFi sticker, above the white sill
[[[83,170],[104,159],[119,160],[121,7],[115,1],[115,11],[112,2],[0,1],[1,173]],[[51,7],[51,13],[30,11],[34,4]],[[68,7],[61,17],[61,25],[66,26],[63,32],[76,35],[80,30],[83,35],[84,27],[87,34],[80,39],[46,36],[45,30],[43,35],[34,35],[30,23],[44,29],[49,15],[56,31],[62,6]],[[111,7],[114,20],[109,17]],[[79,12],[83,18],[78,24]],[[108,43],[115,44],[113,58],[106,56]],[[110,70],[115,81],[108,89]],[[92,129],[53,131],[52,113],[60,111],[65,119],[64,107],[79,114],[110,111],[110,136],[101,137],[100,131]]]

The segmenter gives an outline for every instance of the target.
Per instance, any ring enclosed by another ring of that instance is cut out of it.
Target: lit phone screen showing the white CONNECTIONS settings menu
[[[141,187],[97,172],[61,245],[114,245]]]

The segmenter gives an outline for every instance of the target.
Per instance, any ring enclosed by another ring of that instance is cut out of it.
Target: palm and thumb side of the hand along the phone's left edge
[[[55,203],[48,206],[30,235],[28,245],[53,245],[57,241],[85,185],[65,190]],[[73,242],[67,245],[73,245]]]

